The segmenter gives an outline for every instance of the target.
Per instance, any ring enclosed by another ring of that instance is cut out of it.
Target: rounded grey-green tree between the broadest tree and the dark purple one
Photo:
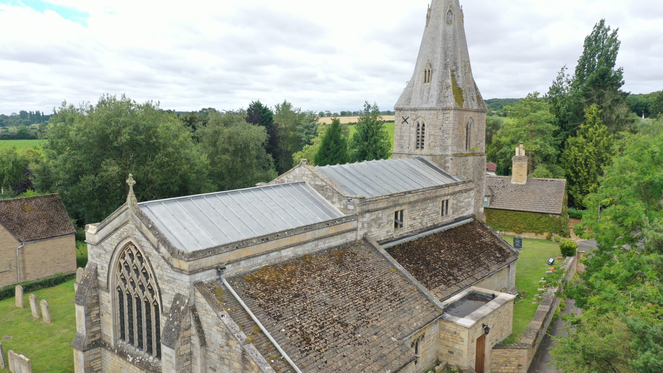
[[[215,190],[253,187],[278,176],[265,151],[265,127],[247,123],[245,112],[211,112],[197,135]]]

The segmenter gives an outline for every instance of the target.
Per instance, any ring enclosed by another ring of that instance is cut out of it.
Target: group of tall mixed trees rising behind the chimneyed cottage
[[[570,206],[584,208],[583,199],[597,190],[611,162],[614,141],[660,118],[663,91],[629,96],[622,90],[623,69],[615,64],[617,31],[599,21],[585,38],[572,75],[564,66],[547,94],[533,92],[503,106],[510,121],[487,117],[487,159],[497,163],[497,175],[511,174],[514,148],[523,143],[529,175],[566,178]],[[636,113],[641,110],[647,119]]]

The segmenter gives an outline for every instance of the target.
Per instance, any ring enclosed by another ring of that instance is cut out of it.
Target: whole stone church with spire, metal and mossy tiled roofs
[[[422,11],[422,21],[424,21]],[[391,159],[127,202],[86,227],[76,373],[490,372],[516,252],[483,222],[486,106],[432,0]]]

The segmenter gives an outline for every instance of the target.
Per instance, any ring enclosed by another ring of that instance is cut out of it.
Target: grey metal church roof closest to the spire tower
[[[366,197],[463,181],[420,156],[316,166],[316,169],[349,194]]]

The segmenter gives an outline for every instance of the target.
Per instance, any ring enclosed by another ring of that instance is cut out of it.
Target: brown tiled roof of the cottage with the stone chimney
[[[562,214],[566,179],[528,177],[525,184],[512,184],[510,176],[486,175],[486,188],[492,191],[489,208]],[[486,191],[485,195],[491,195]]]

